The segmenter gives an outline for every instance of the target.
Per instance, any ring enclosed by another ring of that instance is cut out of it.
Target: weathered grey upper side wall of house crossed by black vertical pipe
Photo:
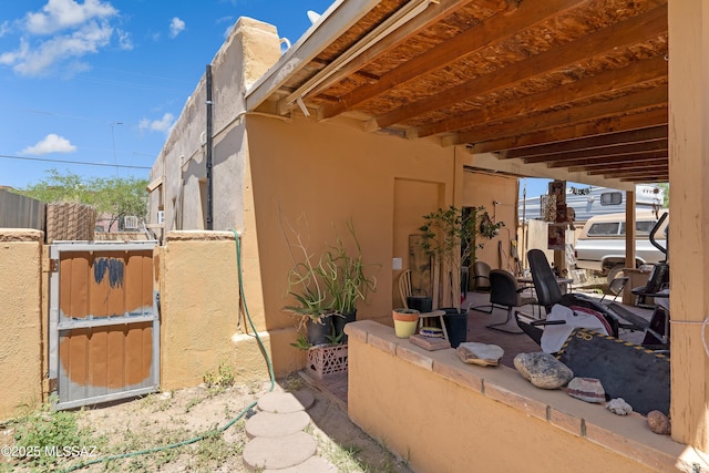
[[[213,76],[213,228],[242,226],[245,179],[244,92],[280,56],[274,25],[239,18],[210,62]],[[206,78],[187,99],[151,169],[150,219],[165,212],[164,232],[206,228]],[[237,133],[234,133],[237,130]],[[228,205],[225,205],[228,203]],[[161,208],[162,207],[162,208]]]

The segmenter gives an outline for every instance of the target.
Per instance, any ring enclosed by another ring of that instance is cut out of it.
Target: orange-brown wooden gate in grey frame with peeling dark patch
[[[156,241],[50,249],[49,376],[58,409],[157,391]]]

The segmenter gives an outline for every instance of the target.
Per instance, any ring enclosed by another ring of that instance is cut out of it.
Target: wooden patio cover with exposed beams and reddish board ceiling
[[[668,59],[667,0],[340,0],[247,107],[630,188],[669,179]]]

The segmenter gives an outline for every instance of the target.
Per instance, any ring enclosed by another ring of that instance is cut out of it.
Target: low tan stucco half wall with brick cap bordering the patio
[[[668,472],[682,455],[639,414],[465,364],[453,349],[425,351],[373,321],[346,331],[349,417],[415,471]]]

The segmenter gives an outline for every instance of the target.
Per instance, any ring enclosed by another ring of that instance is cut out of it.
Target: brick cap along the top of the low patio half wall
[[[424,350],[408,339],[397,338],[393,328],[371,320],[350,322],[345,331],[350,336],[350,357],[360,343],[369,345],[393,354],[391,359],[395,362],[433,367],[432,370],[421,370],[422,376],[448,379],[469,389],[471,395],[484,395],[502,402],[518,410],[522,415],[540,418],[556,429],[584,438],[650,469],[672,471],[687,463],[687,445],[653,433],[647,419],[639,413],[619,417],[602,404],[583,402],[563,390],[535,388],[516,370],[505,366],[463,363],[455,349]],[[349,382],[356,383],[357,379],[350,376]]]

